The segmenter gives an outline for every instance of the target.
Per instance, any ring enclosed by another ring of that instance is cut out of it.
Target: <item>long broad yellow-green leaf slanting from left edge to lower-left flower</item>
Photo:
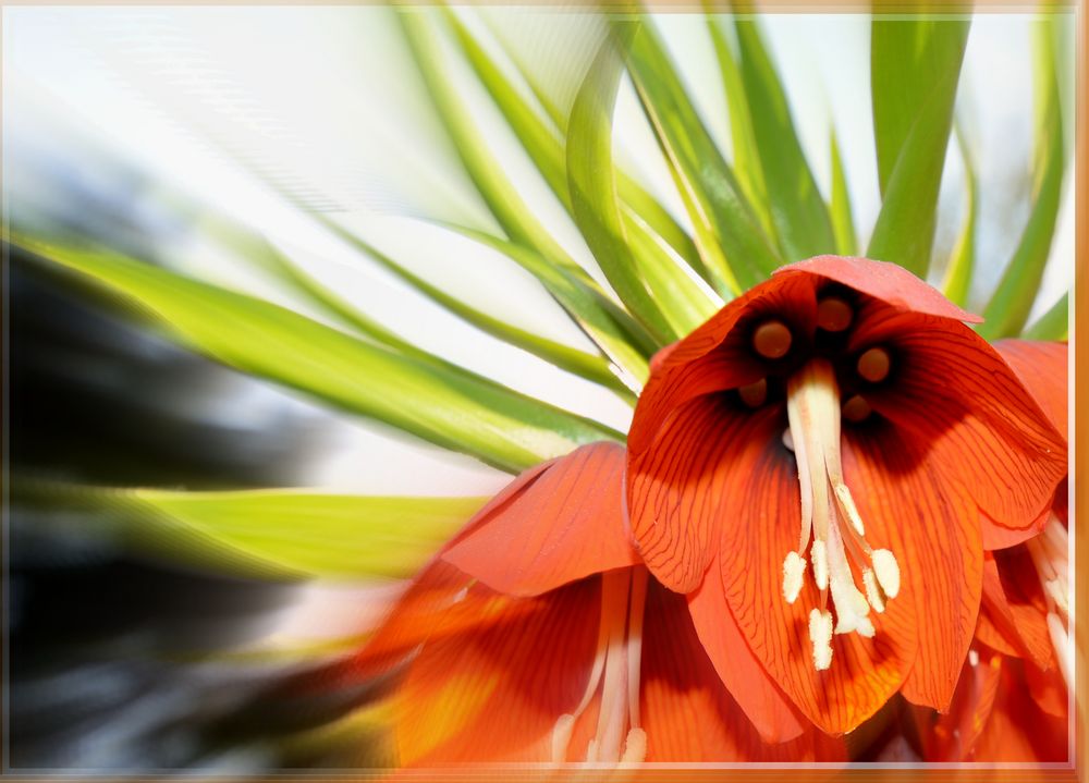
[[[403,356],[269,302],[117,255],[17,244],[123,295],[217,362],[511,473],[582,443],[623,439],[452,365]]]

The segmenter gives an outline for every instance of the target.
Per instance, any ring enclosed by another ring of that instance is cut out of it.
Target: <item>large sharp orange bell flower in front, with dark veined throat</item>
[[[794,264],[656,357],[628,438],[651,574],[768,739],[900,690],[950,706],[983,550],[1033,535],[1066,443],[978,320],[905,270]]]

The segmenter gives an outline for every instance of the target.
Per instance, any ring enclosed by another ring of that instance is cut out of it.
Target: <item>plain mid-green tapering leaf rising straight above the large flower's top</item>
[[[782,254],[793,261],[830,253],[835,247],[832,221],[802,151],[786,93],[756,22],[735,16],[734,28],[752,137]]]

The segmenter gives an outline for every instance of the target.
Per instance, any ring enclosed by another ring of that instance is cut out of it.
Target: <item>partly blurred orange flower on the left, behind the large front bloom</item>
[[[723,687],[685,600],[631,545],[624,449],[527,470],[408,589],[353,662],[406,659],[400,762],[839,760],[816,731],[764,744]]]

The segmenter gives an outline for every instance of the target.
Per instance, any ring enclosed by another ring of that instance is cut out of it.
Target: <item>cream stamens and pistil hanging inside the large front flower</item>
[[[888,374],[888,355],[883,359],[883,374],[874,375]],[[882,364],[880,357],[877,362]],[[849,409],[849,405],[847,407]],[[787,603],[797,600],[805,580],[804,553],[808,549],[813,580],[820,590],[820,605],[809,613],[809,638],[813,647],[813,665],[821,671],[832,663],[829,594],[835,609],[834,633],[855,632],[871,637],[873,623],[869,611],[872,608],[883,612],[885,602],[896,597],[900,566],[888,549],[872,549],[866,541],[862,519],[843,479],[840,388],[828,359],[812,358],[790,378],[786,412],[798,463],[802,534],[798,549],[783,561],[783,597]],[[848,411],[843,413],[846,415]],[[843,524],[844,521],[847,524]],[[856,572],[861,575],[865,595],[858,589]]]

